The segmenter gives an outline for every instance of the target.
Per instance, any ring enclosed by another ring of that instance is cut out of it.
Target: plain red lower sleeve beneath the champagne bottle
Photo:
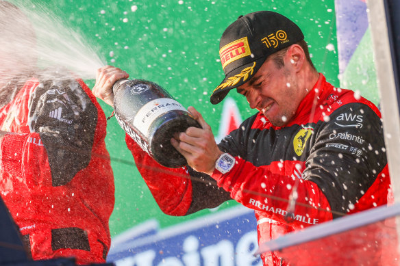
[[[185,167],[166,168],[143,151],[129,135],[125,140],[136,167],[160,209],[168,215],[186,215],[192,202],[192,183],[188,170]]]

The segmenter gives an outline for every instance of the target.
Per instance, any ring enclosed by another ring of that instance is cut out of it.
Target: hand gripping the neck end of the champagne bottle
[[[114,107],[114,93],[112,92],[112,85],[118,79],[127,79],[129,74],[121,68],[114,66],[103,66],[97,70],[96,84],[92,92],[97,97],[103,100],[108,105]]]

